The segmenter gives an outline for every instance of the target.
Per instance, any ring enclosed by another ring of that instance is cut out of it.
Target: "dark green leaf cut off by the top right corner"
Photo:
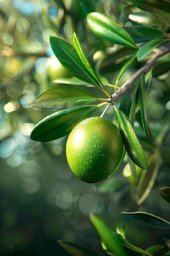
[[[161,22],[170,26],[170,2],[166,0],[139,0],[139,1],[131,1],[136,7],[141,10],[152,13],[156,18],[161,20]]]

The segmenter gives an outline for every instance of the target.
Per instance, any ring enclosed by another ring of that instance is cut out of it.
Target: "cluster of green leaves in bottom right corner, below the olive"
[[[160,195],[164,200],[170,203],[170,187],[163,187],[160,189]],[[128,217],[131,217],[139,222],[144,222],[155,228],[162,228],[169,230],[170,222],[162,219],[161,217],[155,216],[154,214],[149,214],[143,211],[136,212],[123,212]],[[96,228],[98,235],[101,238],[101,245],[105,252],[109,255],[117,256],[128,256],[128,255],[169,255],[170,250],[167,251],[163,244],[156,244],[148,247],[147,249],[142,249],[139,246],[131,244],[126,238],[125,225],[118,225],[116,230],[111,230],[103,219],[97,217],[93,214],[90,215],[90,222]],[[169,239],[164,238],[166,246],[170,249]],[[71,241],[58,241],[58,243],[69,252],[70,255],[88,255],[96,256],[96,252],[90,251],[79,244]]]

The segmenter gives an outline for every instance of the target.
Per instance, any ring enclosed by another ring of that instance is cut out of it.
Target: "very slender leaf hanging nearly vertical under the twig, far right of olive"
[[[140,105],[140,115],[142,120],[142,127],[144,129],[144,134],[147,136],[147,139],[150,140],[152,143],[152,134],[150,132],[150,126],[147,119],[147,110],[145,108],[144,99],[145,99],[145,81],[144,81],[144,75],[142,77],[142,83],[139,86],[140,93],[139,93],[139,105]]]

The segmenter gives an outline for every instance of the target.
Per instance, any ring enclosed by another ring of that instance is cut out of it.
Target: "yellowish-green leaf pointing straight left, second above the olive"
[[[39,108],[71,108],[88,105],[98,98],[90,91],[80,87],[58,86],[39,95],[31,104]]]

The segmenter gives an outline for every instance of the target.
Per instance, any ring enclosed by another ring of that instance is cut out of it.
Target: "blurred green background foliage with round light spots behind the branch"
[[[166,132],[162,133],[158,178],[142,205],[136,203],[136,181],[127,168],[117,171],[115,183],[111,178],[107,183],[85,184],[66,164],[66,138],[50,143],[29,138],[34,124],[53,111],[33,108],[31,102],[53,88],[54,79],[71,76],[53,57],[49,34],[72,41],[76,31],[88,59],[111,83],[131,54],[118,58],[108,42],[90,33],[85,17],[94,10],[127,26],[160,26],[153,15],[123,0],[0,0],[0,255],[66,255],[57,239],[77,241],[100,252],[88,218],[92,212],[113,229],[125,223],[129,238],[139,246],[162,243],[168,236],[166,230],[155,232],[153,227],[129,222],[121,211],[150,211],[169,219],[169,204],[158,194],[159,187],[170,184],[169,55],[153,70],[146,99],[152,131],[159,134],[166,127]],[[167,31],[166,26],[163,29]],[[128,69],[123,79],[138,65]],[[128,97],[123,97],[124,108]]]

